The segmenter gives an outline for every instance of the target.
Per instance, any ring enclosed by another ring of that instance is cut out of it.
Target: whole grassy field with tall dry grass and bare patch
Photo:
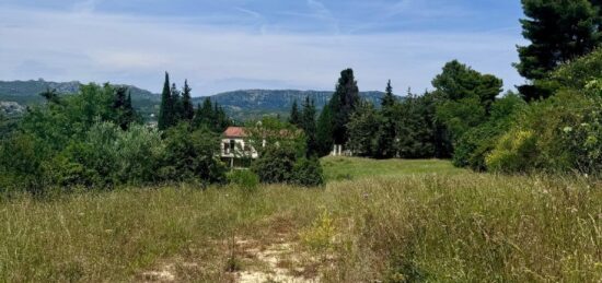
[[[0,281],[602,281],[600,182],[444,161],[323,164],[322,189],[5,200]]]

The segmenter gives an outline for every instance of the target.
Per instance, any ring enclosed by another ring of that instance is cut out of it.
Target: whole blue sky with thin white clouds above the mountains
[[[246,89],[431,89],[458,59],[524,82],[519,0],[0,0],[0,80]]]

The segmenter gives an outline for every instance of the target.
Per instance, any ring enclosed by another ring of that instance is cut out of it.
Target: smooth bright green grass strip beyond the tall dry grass
[[[374,176],[402,176],[416,174],[455,175],[465,173],[449,161],[441,160],[366,160],[358,157],[322,158],[326,180],[357,179]]]

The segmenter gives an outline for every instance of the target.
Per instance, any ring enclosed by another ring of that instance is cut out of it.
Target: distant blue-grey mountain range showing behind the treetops
[[[0,102],[16,103],[20,106],[33,105],[44,102],[39,93],[50,89],[60,94],[76,94],[82,84],[80,82],[47,82],[42,79],[32,81],[0,81]],[[144,116],[151,118],[159,113],[161,95],[136,87],[127,86],[131,92],[134,106]],[[227,113],[236,120],[246,120],[258,118],[265,115],[289,114],[293,102],[298,102],[299,107],[310,97],[315,102],[320,110],[326,105],[333,92],[328,91],[296,91],[296,90],[241,90],[225,92],[209,96],[213,103],[221,105]],[[375,105],[380,104],[383,97],[382,92],[361,92],[360,96]],[[206,97],[194,97],[195,104],[201,104]],[[8,104],[7,104],[8,105]],[[11,107],[18,107],[11,104]],[[11,109],[12,109],[11,108]],[[0,108],[1,111],[2,108]]]

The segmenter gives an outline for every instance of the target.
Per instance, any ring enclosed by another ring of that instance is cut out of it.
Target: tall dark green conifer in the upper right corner
[[[523,36],[531,42],[519,46],[514,67],[530,81],[544,79],[564,62],[591,52],[602,42],[601,2],[598,0],[521,0],[525,19]],[[547,97],[539,85],[519,87],[526,101]]]

